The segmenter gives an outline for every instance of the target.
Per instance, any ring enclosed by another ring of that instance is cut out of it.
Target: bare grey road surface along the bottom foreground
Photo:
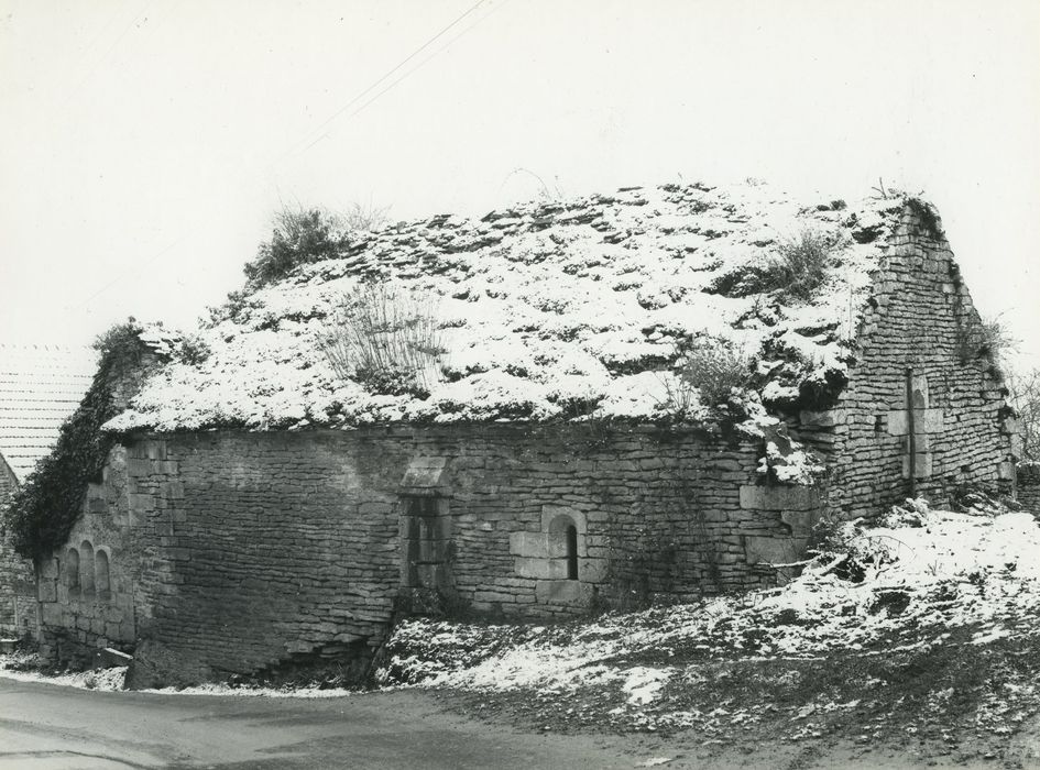
[[[692,733],[557,735],[478,719],[455,705],[416,691],[302,700],[92,692],[0,679],[0,769],[1040,768],[1040,722],[1004,761],[965,763],[912,746],[719,747]]]

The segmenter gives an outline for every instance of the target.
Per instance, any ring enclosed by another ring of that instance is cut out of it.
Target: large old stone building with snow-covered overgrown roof
[[[821,516],[1014,491],[994,351],[917,199],[667,185],[337,249],[253,271],[107,426],[40,564],[46,651],[122,646],[135,684],[364,661],[399,612],[771,585]]]

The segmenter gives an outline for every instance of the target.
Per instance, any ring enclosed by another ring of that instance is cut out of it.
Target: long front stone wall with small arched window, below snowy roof
[[[153,684],[364,658],[395,608],[546,617],[768,585],[817,501],[757,486],[758,454],[582,426],[140,438],[70,540],[110,548],[110,604],[55,565],[45,617],[83,641],[135,631]]]

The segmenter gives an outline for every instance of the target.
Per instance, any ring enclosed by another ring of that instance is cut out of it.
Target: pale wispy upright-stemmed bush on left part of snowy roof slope
[[[373,393],[429,396],[445,353],[431,299],[386,282],[344,295],[318,345],[336,374]]]

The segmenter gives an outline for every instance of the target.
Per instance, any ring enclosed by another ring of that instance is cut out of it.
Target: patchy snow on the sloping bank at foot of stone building
[[[638,711],[669,681],[697,675],[693,666],[625,663],[647,656],[812,660],[942,645],[961,627],[976,629],[975,645],[1037,631],[1040,528],[1031,514],[952,513],[908,501],[878,526],[842,525],[831,544],[780,588],[697,604],[562,626],[406,620],[377,675],[387,684],[499,692],[613,686],[613,714]],[[858,580],[843,571],[853,564]],[[693,719],[656,718],[672,726]]]

